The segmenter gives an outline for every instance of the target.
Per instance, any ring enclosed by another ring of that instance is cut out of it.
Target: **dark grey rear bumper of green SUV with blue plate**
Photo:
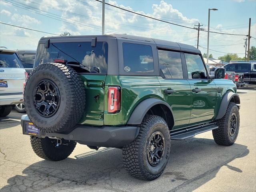
[[[77,124],[69,133],[46,133],[35,128],[27,115],[21,118],[22,133],[40,138],[57,137],[73,140],[80,144],[98,147],[122,147],[132,142],[139,133],[137,126],[94,127]]]

